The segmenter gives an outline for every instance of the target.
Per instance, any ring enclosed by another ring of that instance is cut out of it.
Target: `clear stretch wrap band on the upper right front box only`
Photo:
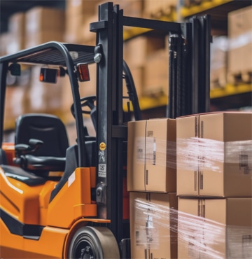
[[[216,141],[192,137],[177,139],[177,168],[192,169],[199,167],[222,172],[222,163],[237,164],[244,167],[244,174],[252,171],[252,140]]]

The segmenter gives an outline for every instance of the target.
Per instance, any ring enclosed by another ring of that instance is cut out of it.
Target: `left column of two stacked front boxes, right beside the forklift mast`
[[[176,258],[176,120],[128,124],[131,258]]]

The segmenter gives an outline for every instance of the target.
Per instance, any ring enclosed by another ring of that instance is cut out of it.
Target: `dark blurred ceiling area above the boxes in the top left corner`
[[[8,18],[13,13],[24,12],[34,6],[64,8],[65,0],[0,0],[0,34],[8,31]]]

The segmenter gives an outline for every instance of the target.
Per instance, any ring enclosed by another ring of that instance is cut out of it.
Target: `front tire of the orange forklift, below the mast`
[[[83,227],[76,231],[69,246],[69,259],[119,259],[116,238],[108,228]]]

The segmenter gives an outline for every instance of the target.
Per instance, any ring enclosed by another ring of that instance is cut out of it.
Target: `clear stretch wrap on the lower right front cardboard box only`
[[[249,226],[224,225],[179,211],[178,240],[190,258],[252,258]]]

